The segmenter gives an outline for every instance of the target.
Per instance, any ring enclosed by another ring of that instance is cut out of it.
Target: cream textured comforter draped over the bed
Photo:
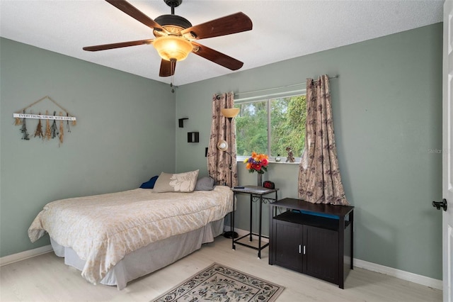
[[[134,189],[47,203],[28,229],[32,242],[46,232],[86,260],[82,276],[93,284],[128,253],[202,228],[233,208],[227,186],[192,193]]]

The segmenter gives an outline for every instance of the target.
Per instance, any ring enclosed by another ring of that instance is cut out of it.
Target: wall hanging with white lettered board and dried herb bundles
[[[26,110],[35,104],[38,104],[40,101],[48,99],[52,101],[55,105],[57,105],[62,111],[59,111],[57,115],[57,111],[53,112],[53,115],[49,115],[49,111],[45,112],[45,115],[33,114],[33,113],[26,113]],[[33,135],[34,138],[38,137],[42,140],[50,140],[51,138],[58,138],[59,144],[63,143],[64,139],[64,123],[66,123],[66,130],[68,133],[71,132],[71,128],[69,125],[69,121],[71,125],[76,125],[76,118],[72,116],[65,108],[59,105],[56,101],[54,101],[50,96],[44,96],[38,101],[33,102],[32,104],[22,108],[20,111],[13,113],[13,118],[15,118],[14,125],[21,125],[21,133],[23,140],[30,140],[30,135],[28,134],[27,130],[27,123],[26,120],[30,119],[37,119],[38,125],[36,126],[35,134]],[[42,129],[42,121],[45,120],[45,128]],[[52,121],[52,125],[51,122]],[[57,125],[57,121],[59,125]]]

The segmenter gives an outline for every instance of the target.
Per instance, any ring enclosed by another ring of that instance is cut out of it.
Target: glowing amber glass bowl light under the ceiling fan
[[[162,59],[182,61],[192,52],[192,43],[177,35],[164,35],[153,41]]]

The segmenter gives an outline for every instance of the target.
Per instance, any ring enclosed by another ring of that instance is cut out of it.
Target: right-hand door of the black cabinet
[[[304,274],[338,284],[338,232],[304,225],[304,246]]]

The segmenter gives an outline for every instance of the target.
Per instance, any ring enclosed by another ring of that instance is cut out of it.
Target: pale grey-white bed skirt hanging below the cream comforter
[[[224,219],[214,221],[203,228],[189,233],[169,237],[153,242],[146,247],[127,254],[115,267],[110,269],[101,284],[117,286],[124,289],[127,282],[155,272],[168,264],[176,262],[195,250],[203,243],[214,241],[224,230]],[[50,238],[55,255],[64,257],[64,263],[82,271],[85,261],[77,256],[71,247],[63,247]]]

